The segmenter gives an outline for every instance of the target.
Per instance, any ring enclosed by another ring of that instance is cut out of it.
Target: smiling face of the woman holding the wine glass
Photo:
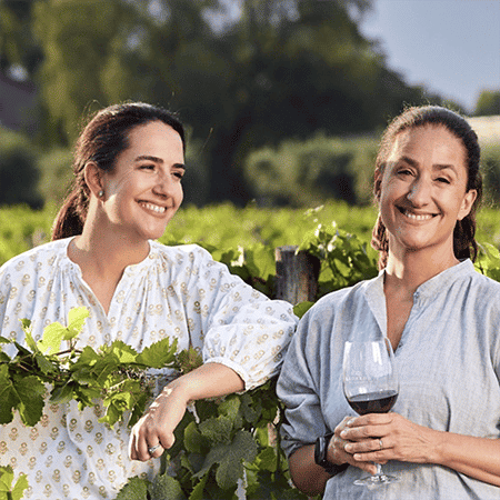
[[[376,176],[389,251],[432,248],[453,259],[453,229],[476,200],[466,191],[466,149],[443,126],[398,133],[382,173]]]

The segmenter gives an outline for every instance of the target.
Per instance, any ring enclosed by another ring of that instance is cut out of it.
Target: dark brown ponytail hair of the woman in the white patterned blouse
[[[117,157],[129,147],[130,131],[151,121],[162,121],[179,133],[186,149],[184,129],[177,116],[146,102],[109,106],[90,117],[73,151],[74,179],[70,193],[56,216],[52,240],[81,234],[89,208],[90,190],[84,180],[84,167],[94,162],[111,172]]]

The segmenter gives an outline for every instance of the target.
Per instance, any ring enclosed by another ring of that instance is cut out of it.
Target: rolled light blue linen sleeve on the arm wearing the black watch
[[[300,320],[278,379],[278,398],[286,406],[281,446],[288,457],[327,432],[317,380],[321,326],[313,312],[314,308]]]

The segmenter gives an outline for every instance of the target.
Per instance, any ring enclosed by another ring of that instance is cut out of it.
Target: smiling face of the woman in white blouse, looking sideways
[[[180,136],[162,121],[131,129],[129,147],[102,176],[107,229],[129,242],[160,238],[182,202],[183,161]]]

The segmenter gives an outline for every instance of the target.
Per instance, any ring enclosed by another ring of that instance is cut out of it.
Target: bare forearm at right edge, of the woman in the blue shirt
[[[471,478],[500,486],[500,440],[452,432],[437,434],[434,463]]]

